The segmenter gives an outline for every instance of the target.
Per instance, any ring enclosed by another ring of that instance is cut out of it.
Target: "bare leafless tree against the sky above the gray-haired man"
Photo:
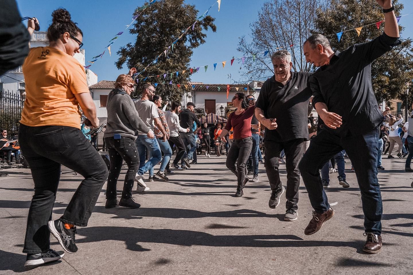
[[[245,56],[257,52],[255,58],[247,58],[244,63],[242,78],[256,80],[273,73],[271,60],[268,58],[278,49],[287,49],[292,56],[294,71],[309,71],[306,63],[303,43],[316,28],[316,11],[328,6],[327,0],[270,0],[264,3],[258,14],[258,20],[250,25],[252,42],[245,36],[240,38],[238,51]]]

